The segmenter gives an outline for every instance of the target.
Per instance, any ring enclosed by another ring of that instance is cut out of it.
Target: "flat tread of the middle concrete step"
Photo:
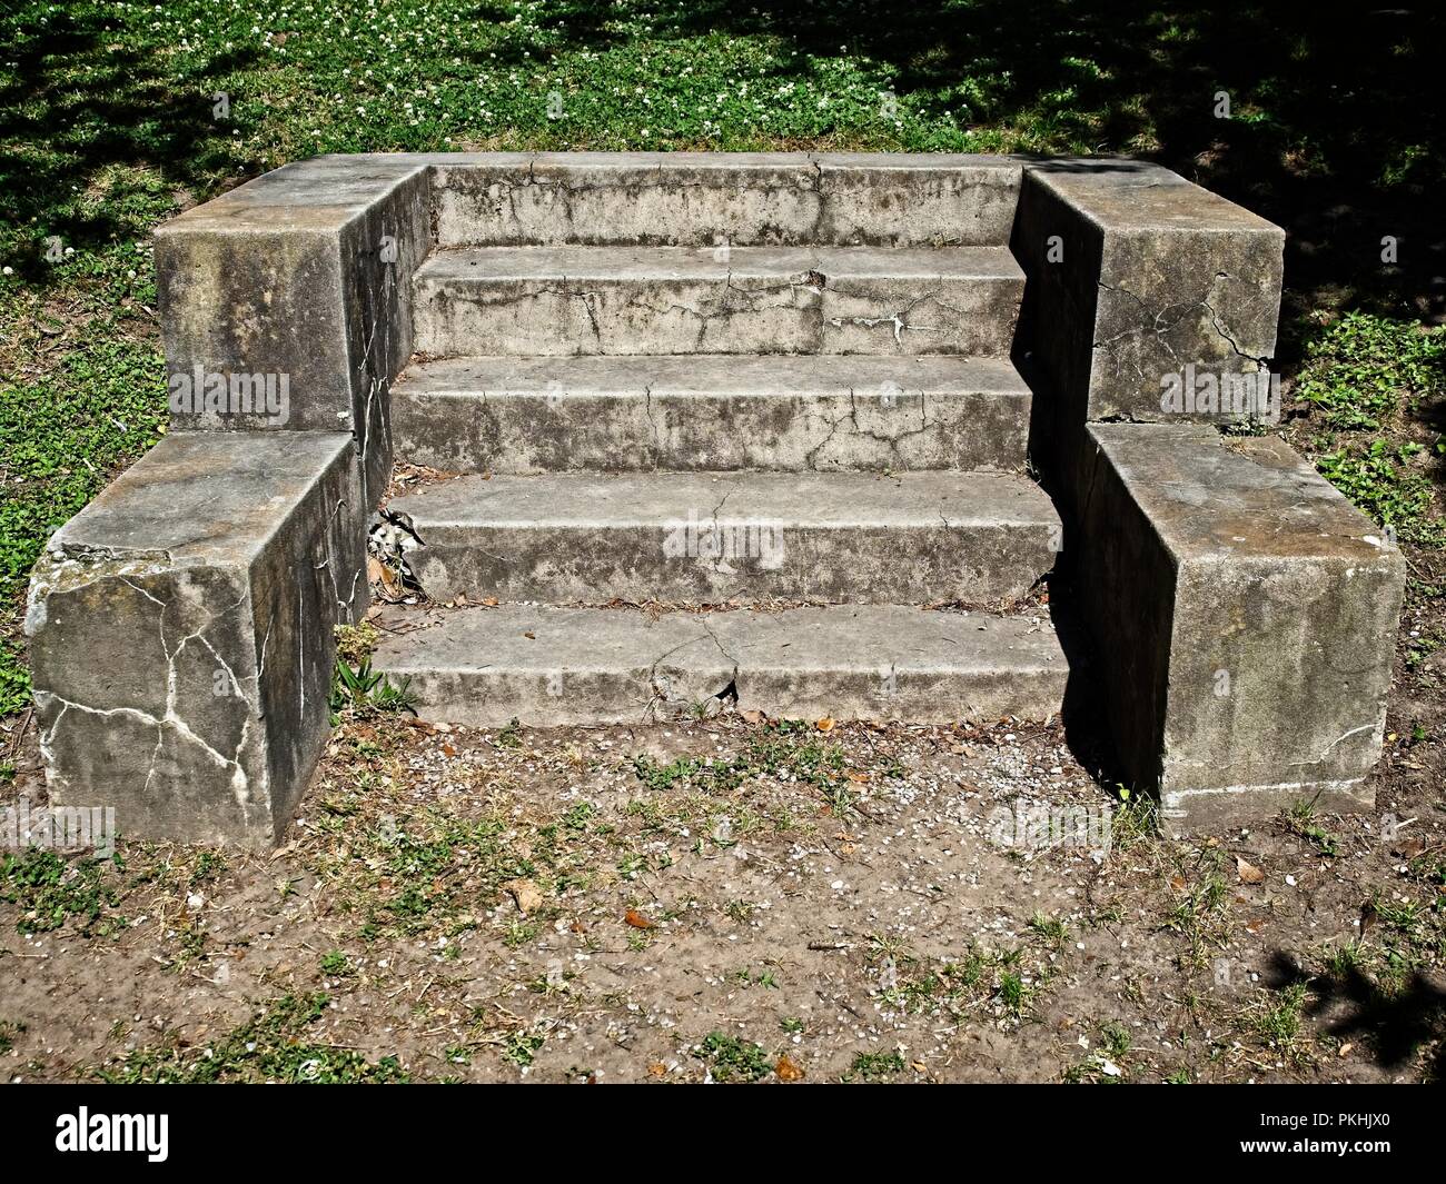
[[[949,354],[581,354],[448,357],[416,361],[395,390],[405,395],[808,395],[868,392],[1028,395],[1005,357]]]

